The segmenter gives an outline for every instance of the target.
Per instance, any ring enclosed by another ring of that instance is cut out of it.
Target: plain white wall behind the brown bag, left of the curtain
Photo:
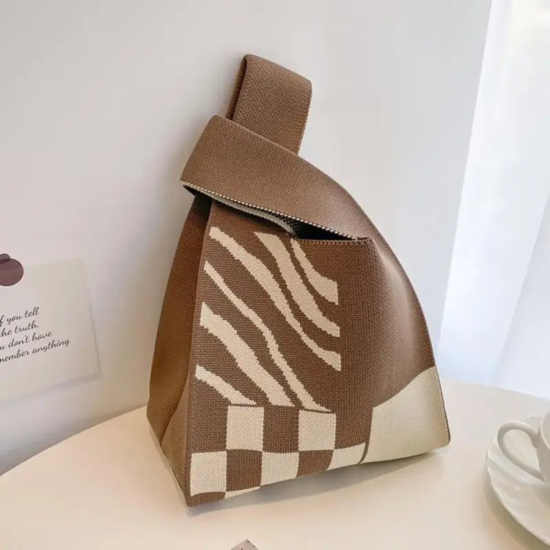
[[[144,404],[190,197],[178,178],[242,54],[314,82],[303,155],[401,256],[434,340],[489,0],[0,4],[1,248],[82,257],[98,377],[0,404],[0,471]]]

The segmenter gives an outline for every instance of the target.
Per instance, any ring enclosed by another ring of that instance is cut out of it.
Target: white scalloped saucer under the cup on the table
[[[536,428],[540,418],[528,418],[525,422]],[[537,467],[536,452],[526,434],[514,430],[506,435],[506,442],[511,452]],[[487,449],[485,466],[503,507],[522,527],[550,545],[550,486],[512,464],[500,450],[496,436]]]

